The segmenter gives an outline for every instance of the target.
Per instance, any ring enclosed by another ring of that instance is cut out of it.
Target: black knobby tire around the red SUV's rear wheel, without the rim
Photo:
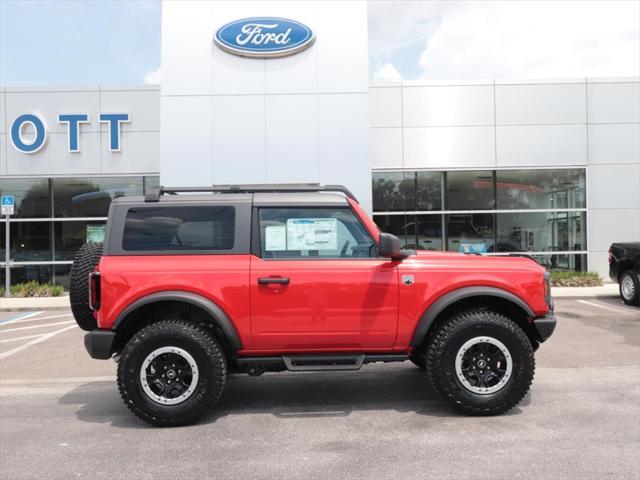
[[[143,390],[140,369],[154,350],[178,347],[195,360],[199,378],[196,390],[177,405],[162,405]],[[213,407],[224,390],[227,363],[216,338],[207,329],[182,320],[163,320],[136,333],[118,363],[118,388],[129,410],[147,423],[161,427],[188,425]]]

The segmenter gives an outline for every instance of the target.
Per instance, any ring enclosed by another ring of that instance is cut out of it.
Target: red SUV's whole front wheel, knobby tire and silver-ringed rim
[[[529,391],[535,370],[531,341],[504,315],[469,310],[442,323],[427,346],[429,381],[471,415],[497,415]]]

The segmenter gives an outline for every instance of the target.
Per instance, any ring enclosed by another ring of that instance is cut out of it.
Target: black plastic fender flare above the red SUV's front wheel
[[[496,297],[508,300],[516,306],[520,307],[524,312],[526,312],[529,317],[535,317],[535,314],[533,313],[533,310],[531,310],[531,307],[529,307],[529,305],[527,305],[524,300],[517,297],[511,292],[507,292],[506,290],[495,287],[464,287],[443,295],[438,300],[433,302],[429,306],[429,308],[427,308],[427,310],[420,317],[418,326],[413,332],[413,337],[411,338],[411,346],[418,347],[422,345],[422,342],[427,335],[429,328],[445,308],[454,304],[455,302],[471,297]]]

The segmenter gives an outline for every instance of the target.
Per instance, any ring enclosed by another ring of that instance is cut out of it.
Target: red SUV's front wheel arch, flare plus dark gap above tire
[[[420,317],[411,338],[411,346],[421,346],[433,327],[453,311],[487,306],[515,321],[532,343],[538,341],[535,328],[530,323],[535,313],[524,300],[500,288],[477,286],[454,290],[433,302]]]

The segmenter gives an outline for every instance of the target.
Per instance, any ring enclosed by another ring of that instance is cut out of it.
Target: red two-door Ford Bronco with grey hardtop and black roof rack
[[[405,360],[458,410],[499,414],[556,324],[531,259],[403,250],[341,186],[118,198],[71,282],[87,351],[113,357],[125,404],[164,426],[203,415],[229,373]]]

